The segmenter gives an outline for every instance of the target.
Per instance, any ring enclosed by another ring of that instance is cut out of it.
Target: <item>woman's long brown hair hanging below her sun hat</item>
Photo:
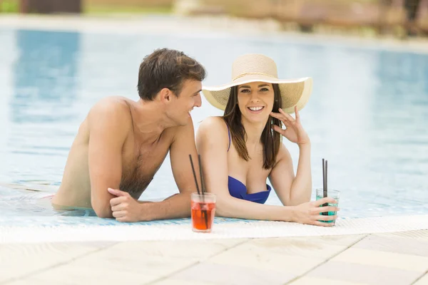
[[[274,93],[272,112],[279,112],[279,108],[282,105],[280,87],[275,83],[272,84],[272,87]],[[230,88],[230,96],[223,120],[225,120],[225,123],[229,127],[230,136],[238,155],[243,160],[248,161],[250,155],[248,155],[247,146],[245,145],[247,133],[245,133],[238,106],[238,86]],[[280,151],[281,145],[281,135],[272,129],[272,125],[277,125],[281,128],[281,121],[269,117],[260,138],[260,142],[263,145],[263,168],[265,170],[270,170],[275,165],[277,153]]]

